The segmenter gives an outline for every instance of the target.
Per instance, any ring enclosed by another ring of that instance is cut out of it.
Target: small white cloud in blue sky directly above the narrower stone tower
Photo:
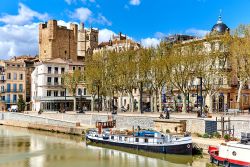
[[[83,8],[83,7],[77,8],[75,9],[73,13],[71,13],[72,18],[80,20],[82,22],[85,22],[86,20],[88,20],[91,15],[92,15],[91,10],[89,10],[88,8]]]

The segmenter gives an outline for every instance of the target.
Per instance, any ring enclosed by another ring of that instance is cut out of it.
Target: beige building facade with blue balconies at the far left
[[[17,105],[22,96],[26,109],[30,108],[31,72],[37,59],[30,56],[14,57],[1,62],[0,110],[6,111],[12,105]]]

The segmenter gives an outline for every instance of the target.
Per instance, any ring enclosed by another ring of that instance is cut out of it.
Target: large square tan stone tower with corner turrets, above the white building
[[[78,25],[70,29],[58,26],[56,20],[39,24],[39,60],[54,58],[77,61]]]

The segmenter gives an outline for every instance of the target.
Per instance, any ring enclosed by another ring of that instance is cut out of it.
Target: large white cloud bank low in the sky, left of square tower
[[[38,53],[38,23],[0,27],[0,59]]]

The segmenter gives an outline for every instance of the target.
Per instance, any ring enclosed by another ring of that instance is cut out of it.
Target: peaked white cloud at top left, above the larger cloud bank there
[[[45,21],[49,17],[47,13],[38,13],[22,3],[19,3],[18,6],[18,15],[4,14],[0,18],[0,22],[11,25],[25,25],[30,24],[35,18]]]

